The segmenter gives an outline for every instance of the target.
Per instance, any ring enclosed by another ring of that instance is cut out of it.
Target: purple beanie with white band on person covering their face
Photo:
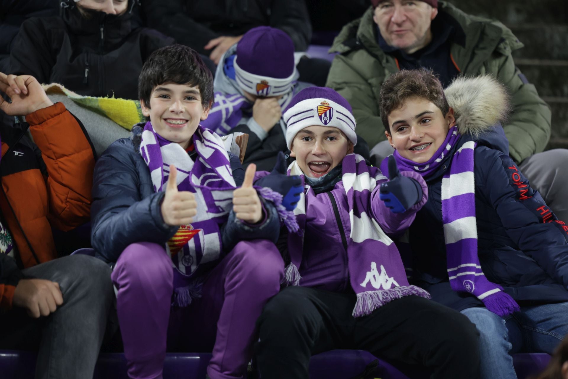
[[[297,80],[294,43],[281,30],[268,26],[249,30],[237,43],[236,53],[236,81],[248,93],[282,95]]]

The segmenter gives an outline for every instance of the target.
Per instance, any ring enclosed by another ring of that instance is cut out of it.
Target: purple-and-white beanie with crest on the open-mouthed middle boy
[[[286,145],[300,130],[312,125],[336,127],[357,144],[356,121],[349,103],[335,90],[326,87],[310,87],[299,91],[284,111]]]

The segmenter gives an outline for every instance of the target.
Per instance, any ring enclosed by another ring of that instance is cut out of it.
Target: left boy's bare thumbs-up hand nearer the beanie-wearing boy
[[[243,186],[233,191],[233,211],[235,217],[251,224],[256,224],[262,219],[262,206],[256,189],[252,187],[256,164],[251,163],[245,172]]]

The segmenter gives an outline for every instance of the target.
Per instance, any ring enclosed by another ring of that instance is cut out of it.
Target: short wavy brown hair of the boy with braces
[[[442,83],[431,70],[402,70],[389,77],[381,86],[379,111],[383,126],[390,134],[389,115],[402,107],[404,101],[410,98],[423,98],[434,103],[442,115],[450,110]]]

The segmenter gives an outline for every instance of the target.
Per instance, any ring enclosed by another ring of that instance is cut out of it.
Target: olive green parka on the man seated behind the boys
[[[494,74],[507,86],[512,114],[504,131],[509,140],[509,155],[520,163],[544,150],[550,138],[550,108],[538,97],[515,66],[511,52],[523,44],[502,23],[463,13],[453,5],[438,2],[438,15],[452,22],[450,53],[461,75]],[[385,128],[379,114],[381,85],[399,70],[395,58],[387,55],[377,42],[373,8],[362,18],[350,22],[337,36],[329,52],[337,52],[327,86],[337,90],[353,107],[357,134],[369,147],[385,140]]]

